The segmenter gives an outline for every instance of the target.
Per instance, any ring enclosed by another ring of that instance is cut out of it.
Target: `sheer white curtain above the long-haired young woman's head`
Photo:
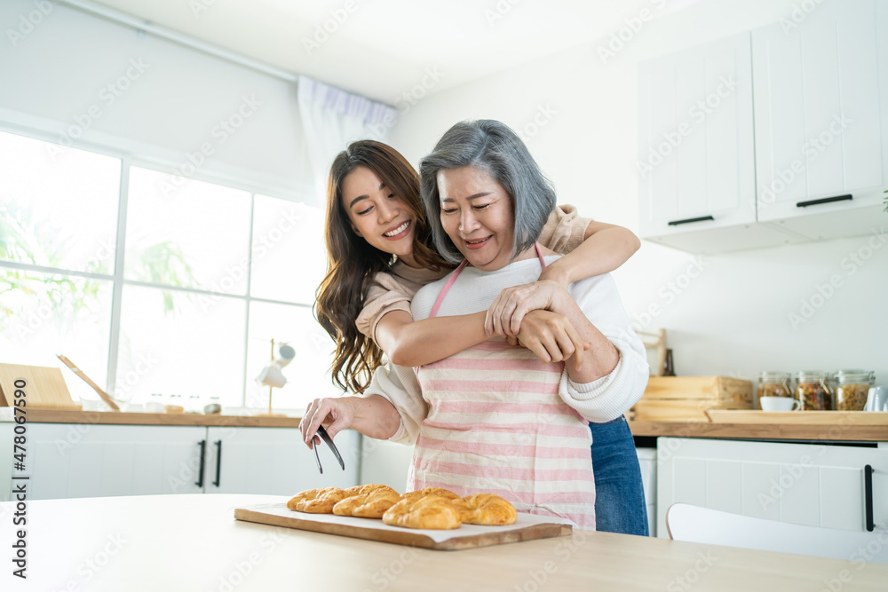
[[[299,76],[297,103],[312,166],[315,195],[319,203],[323,203],[330,164],[336,155],[354,140],[385,142],[396,121],[397,111],[307,76]]]

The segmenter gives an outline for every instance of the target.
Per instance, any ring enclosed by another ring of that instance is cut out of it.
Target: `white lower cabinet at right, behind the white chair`
[[[678,501],[798,525],[866,532],[865,467],[873,520],[888,525],[888,443],[789,444],[657,439],[657,533]],[[869,535],[872,536],[871,534]]]

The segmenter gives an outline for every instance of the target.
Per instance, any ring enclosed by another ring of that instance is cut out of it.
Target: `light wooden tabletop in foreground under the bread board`
[[[888,565],[610,533],[461,551],[414,549],[235,521],[267,495],[28,502],[28,580],[12,576],[13,502],[0,503],[4,590],[884,591]],[[846,581],[841,581],[843,578]],[[850,577],[850,580],[849,580]],[[12,584],[12,586],[10,585]]]

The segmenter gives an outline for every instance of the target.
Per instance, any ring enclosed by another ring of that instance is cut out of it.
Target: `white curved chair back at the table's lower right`
[[[673,541],[888,564],[884,525],[872,533],[844,531],[674,503],[666,511],[666,530]]]

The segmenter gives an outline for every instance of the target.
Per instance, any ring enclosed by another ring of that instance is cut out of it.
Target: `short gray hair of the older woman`
[[[440,223],[438,172],[467,166],[485,170],[511,196],[515,217],[512,257],[532,247],[555,209],[555,188],[518,134],[502,122],[480,119],[456,123],[419,163],[426,218],[441,257],[450,263],[463,260]]]

